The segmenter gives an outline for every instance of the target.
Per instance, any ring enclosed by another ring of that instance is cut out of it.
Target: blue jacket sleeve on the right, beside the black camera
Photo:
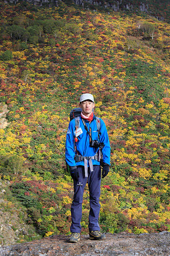
[[[111,146],[109,142],[108,132],[104,121],[102,119],[100,119],[100,121],[100,142],[103,142],[105,144],[104,148],[102,149],[103,163],[111,165]]]

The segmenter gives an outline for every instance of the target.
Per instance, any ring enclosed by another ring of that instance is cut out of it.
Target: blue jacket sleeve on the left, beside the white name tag
[[[76,162],[74,160],[74,157],[75,157],[74,130],[75,130],[75,121],[73,119],[68,125],[68,131],[67,131],[66,142],[65,142],[65,161],[69,166],[76,166]]]

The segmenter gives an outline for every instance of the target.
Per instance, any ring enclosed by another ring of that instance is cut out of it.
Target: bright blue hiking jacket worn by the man
[[[85,119],[84,119],[85,120]],[[97,124],[96,124],[96,117],[94,116],[91,122],[85,120],[85,123],[88,127],[88,131],[90,132],[91,128],[91,137],[93,140],[98,139],[98,132],[97,132]],[[74,149],[74,131],[75,131],[75,120],[71,120],[68,125],[68,131],[66,136],[66,143],[65,143],[65,160],[69,166],[84,166],[84,161],[82,162],[75,162],[74,156],[75,154],[79,154],[84,157],[91,157],[94,156],[99,148],[94,148],[90,146],[90,137],[88,132],[85,130],[85,126],[82,122],[82,117],[80,116],[79,119],[79,127],[82,128],[82,134],[80,134],[77,139],[78,141],[75,143],[76,151]],[[100,119],[100,133],[99,133],[100,140],[99,142],[103,142],[105,144],[104,148],[102,149],[103,155],[103,162],[110,165],[110,155],[111,155],[111,147],[108,138],[108,132],[105,126],[105,123],[102,119]],[[100,165],[100,162],[97,160],[92,160],[93,165]],[[89,164],[88,164],[89,166]]]

